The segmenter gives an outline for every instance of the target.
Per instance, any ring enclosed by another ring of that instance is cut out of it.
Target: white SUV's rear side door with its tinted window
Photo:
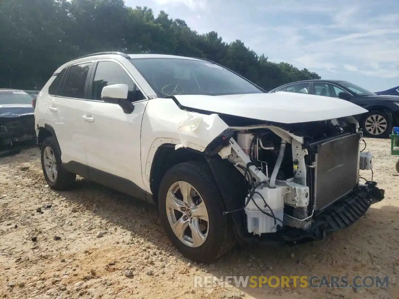
[[[87,163],[82,111],[84,100],[87,98],[88,78],[92,66],[93,62],[70,66],[65,70],[58,88],[49,88],[48,110],[53,119],[51,126],[57,134],[63,163]]]

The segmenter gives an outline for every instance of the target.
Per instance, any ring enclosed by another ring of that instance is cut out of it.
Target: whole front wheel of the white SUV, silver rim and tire
[[[194,262],[213,262],[235,244],[221,194],[200,163],[180,163],[166,172],[158,208],[168,238]]]

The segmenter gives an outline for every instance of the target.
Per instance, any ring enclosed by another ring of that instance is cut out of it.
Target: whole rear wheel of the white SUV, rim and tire
[[[60,151],[54,137],[47,137],[41,144],[41,168],[51,189],[67,189],[76,180],[74,173],[62,167]]]

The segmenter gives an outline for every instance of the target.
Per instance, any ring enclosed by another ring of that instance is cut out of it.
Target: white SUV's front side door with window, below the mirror
[[[116,61],[98,61],[93,81],[89,85],[92,100],[85,102],[83,118],[89,177],[99,183],[123,189],[115,184],[128,180],[144,189],[141,174],[140,134],[147,99],[138,90],[132,77]],[[107,85],[127,84],[129,99],[134,103],[131,114],[117,104],[101,99],[101,90]]]

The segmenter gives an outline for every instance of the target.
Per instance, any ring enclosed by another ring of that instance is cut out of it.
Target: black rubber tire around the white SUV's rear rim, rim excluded
[[[57,177],[56,177],[55,181],[51,181],[49,179],[49,177],[47,176],[47,173],[45,171],[45,167],[44,167],[43,156],[44,156],[44,150],[47,147],[51,148],[51,150],[53,151],[54,156],[55,156],[55,161],[57,163]],[[61,190],[65,190],[65,189],[71,187],[71,185],[73,185],[73,183],[75,183],[76,174],[66,171],[62,167],[60,150],[57,145],[57,140],[55,140],[54,137],[52,137],[52,136],[47,137],[43,141],[43,143],[41,144],[40,157],[41,157],[41,169],[43,170],[44,178],[47,181],[47,184],[49,185],[49,187],[51,189],[61,191]]]

